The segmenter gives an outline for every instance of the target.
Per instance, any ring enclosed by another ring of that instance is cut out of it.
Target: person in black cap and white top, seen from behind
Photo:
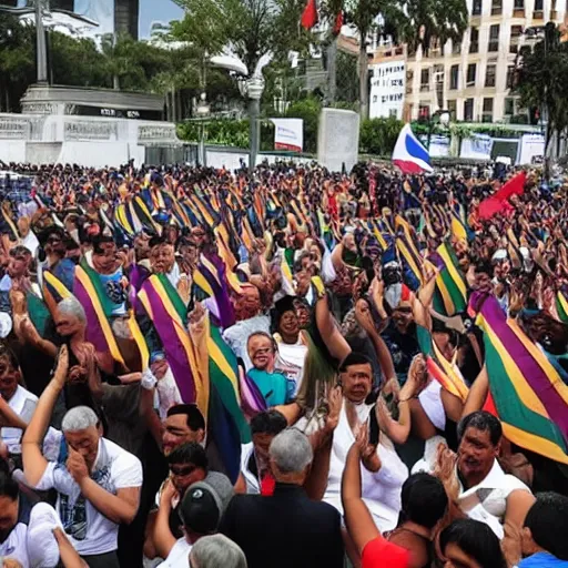
[[[223,474],[210,471],[205,478],[193,483],[185,491],[179,509],[182,536],[175,540],[165,531],[160,534],[160,526],[156,525],[158,549],[165,557],[161,568],[186,567],[193,545],[202,537],[217,531],[232,497],[233,486]]]

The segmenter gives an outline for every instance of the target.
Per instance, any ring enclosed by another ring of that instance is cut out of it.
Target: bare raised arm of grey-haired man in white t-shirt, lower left
[[[69,353],[67,345],[63,345],[59,352],[59,358],[53,378],[43,390],[36,412],[26,429],[22,439],[22,459],[23,473],[27,481],[36,486],[43,477],[48,460],[41,453],[41,444],[48,429],[53,406],[59,394],[65,385],[65,377],[69,367]]]

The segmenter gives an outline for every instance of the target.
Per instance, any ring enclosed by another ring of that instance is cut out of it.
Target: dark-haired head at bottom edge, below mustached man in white
[[[439,536],[445,568],[507,568],[499,539],[485,523],[456,519]]]

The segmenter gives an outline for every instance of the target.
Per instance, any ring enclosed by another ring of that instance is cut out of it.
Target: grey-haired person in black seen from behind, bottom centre
[[[250,568],[266,566],[267,558],[274,567],[343,566],[339,514],[325,503],[311,501],[302,488],[312,460],[308,438],[295,428],[285,429],[270,446],[274,494],[236,495],[231,500],[220,532],[243,549]],[[283,541],[284,548],[278,546]]]

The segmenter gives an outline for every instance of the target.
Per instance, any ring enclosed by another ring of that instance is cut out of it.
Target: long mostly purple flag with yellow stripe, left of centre
[[[183,300],[163,274],[152,274],[146,278],[138,297],[162,342],[183,402],[196,403],[200,386],[199,359],[187,333],[187,314]]]

